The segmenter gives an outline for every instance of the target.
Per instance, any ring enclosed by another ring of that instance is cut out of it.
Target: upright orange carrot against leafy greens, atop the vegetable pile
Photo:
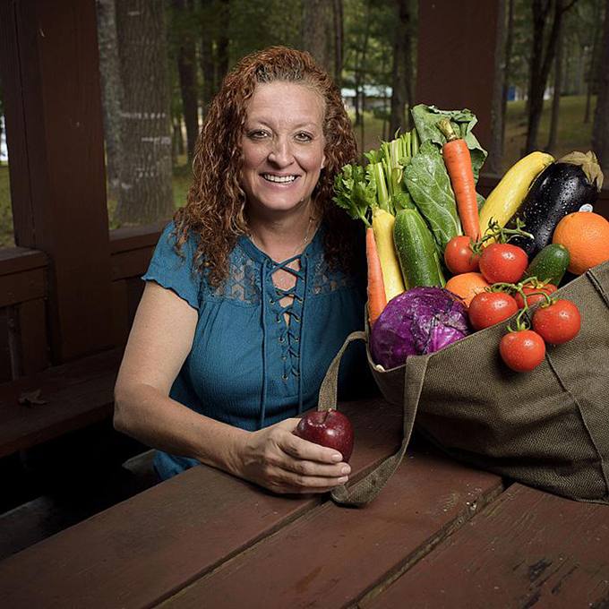
[[[473,241],[477,241],[480,237],[480,220],[478,219],[478,202],[476,183],[472,171],[472,159],[467,143],[457,137],[450,120],[447,118],[439,121],[436,126],[447,140],[442,147],[442,156],[449,172],[452,190],[455,193],[463,231]]]

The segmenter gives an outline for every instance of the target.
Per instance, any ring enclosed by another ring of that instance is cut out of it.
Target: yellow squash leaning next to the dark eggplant
[[[491,220],[501,227],[508,223],[524,202],[533,180],[552,162],[551,155],[536,151],[523,157],[508,169],[480,210],[480,232],[483,236]]]

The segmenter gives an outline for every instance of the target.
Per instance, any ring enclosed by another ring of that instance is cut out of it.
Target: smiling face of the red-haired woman
[[[241,145],[250,210],[268,214],[308,205],[325,163],[322,98],[301,84],[257,85]]]

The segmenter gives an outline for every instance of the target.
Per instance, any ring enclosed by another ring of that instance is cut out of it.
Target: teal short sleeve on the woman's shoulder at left
[[[193,256],[196,250],[195,237],[192,235],[182,246],[181,256],[176,252],[176,235],[172,234],[174,223],[170,222],[159,238],[157,247],[152,254],[150,266],[144,281],[155,281],[161,287],[176,292],[193,309],[200,310],[199,292],[201,289],[201,273],[193,272]]]

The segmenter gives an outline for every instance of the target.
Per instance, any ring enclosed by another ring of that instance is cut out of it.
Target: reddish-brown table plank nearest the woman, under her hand
[[[396,450],[402,416],[382,399],[340,409],[356,434],[355,479]],[[272,495],[193,467],[0,562],[0,606],[147,607],[325,498]]]

